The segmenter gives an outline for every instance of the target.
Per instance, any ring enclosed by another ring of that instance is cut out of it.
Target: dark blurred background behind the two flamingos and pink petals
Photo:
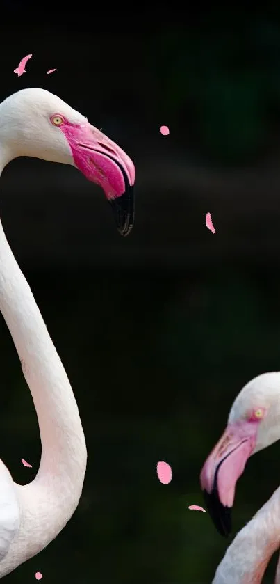
[[[22,158],[1,176],[3,227],[88,444],[73,519],[10,584],[35,571],[46,584],[210,583],[229,542],[188,505],[204,505],[199,472],[240,388],[279,369],[280,17],[168,6],[1,2],[0,100],[56,93],[126,150],[137,176],[127,239],[74,168]],[[3,320],[0,351],[1,457],[24,483],[40,437]],[[158,460],[172,466],[167,486]],[[278,460],[276,444],[249,461],[234,532],[278,486]]]

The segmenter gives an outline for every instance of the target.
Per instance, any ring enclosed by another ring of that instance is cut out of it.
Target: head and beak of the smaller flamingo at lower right
[[[222,437],[200,473],[206,507],[217,531],[231,532],[236,482],[249,457],[280,439],[280,373],[249,381],[233,402]]]

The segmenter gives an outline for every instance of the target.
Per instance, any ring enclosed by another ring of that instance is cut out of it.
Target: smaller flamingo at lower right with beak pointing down
[[[247,383],[233,402],[226,429],[200,474],[206,507],[221,535],[231,532],[236,482],[247,459],[280,439],[280,372]],[[213,584],[260,584],[280,547],[280,487],[238,532],[217,567]],[[275,584],[280,584],[280,558]]]

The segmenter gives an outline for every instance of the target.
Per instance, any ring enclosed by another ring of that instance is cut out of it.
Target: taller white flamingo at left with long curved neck
[[[72,164],[103,187],[117,228],[133,223],[135,168],[87,118],[46,90],[18,91],[0,104],[0,174],[17,156]],[[0,310],[31,391],[42,443],[26,485],[0,460],[0,578],[39,553],[76,509],[85,476],[85,436],[72,388],[0,222]]]

